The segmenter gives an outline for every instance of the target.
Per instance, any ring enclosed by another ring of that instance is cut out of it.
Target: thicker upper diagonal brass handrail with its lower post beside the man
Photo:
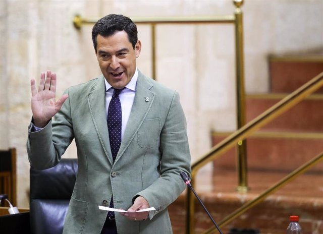
[[[287,95],[284,99],[264,111],[262,114],[257,116],[254,120],[250,121],[248,124],[228,136],[226,139],[221,141],[216,146],[212,147],[210,151],[204,154],[201,158],[196,160],[192,164],[192,180],[191,184],[194,186],[195,175],[197,170],[208,162],[218,158],[221,153],[224,153],[229,148],[231,148],[236,142],[245,139],[247,136],[251,135],[253,132],[277,118],[278,115],[285,112],[287,109],[296,105],[302,99],[304,99],[309,94],[313,93],[319,87],[323,85],[323,72],[315,76],[313,79],[305,83],[303,86]],[[186,193],[186,202],[188,207],[188,212],[186,216],[186,225],[189,233],[194,233],[194,197],[191,193]]]

